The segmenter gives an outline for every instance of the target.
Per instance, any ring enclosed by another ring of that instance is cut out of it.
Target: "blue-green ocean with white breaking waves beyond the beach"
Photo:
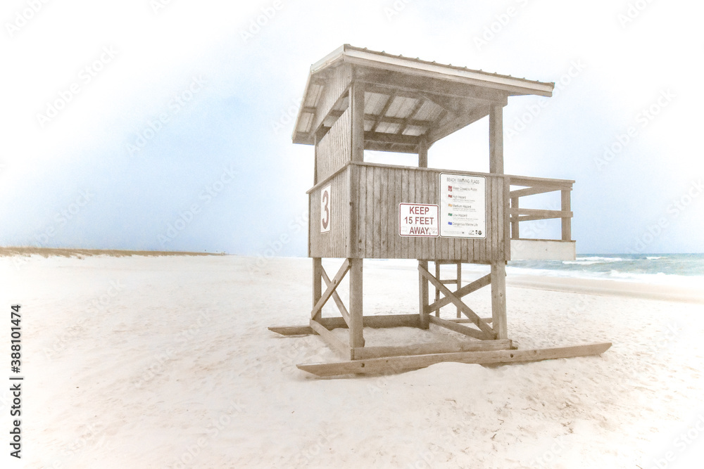
[[[581,254],[574,261],[511,261],[507,271],[704,288],[704,254]]]

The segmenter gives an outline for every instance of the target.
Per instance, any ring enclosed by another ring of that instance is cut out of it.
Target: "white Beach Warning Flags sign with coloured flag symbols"
[[[486,238],[486,178],[440,174],[440,236]]]

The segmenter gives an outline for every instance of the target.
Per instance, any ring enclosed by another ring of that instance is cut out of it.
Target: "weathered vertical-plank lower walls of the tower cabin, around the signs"
[[[398,234],[398,204],[440,202],[439,169],[351,164],[332,179],[332,229],[320,233],[320,191],[310,192],[310,257],[455,260],[489,263],[510,256],[508,183],[500,174],[486,177],[486,238],[416,238]],[[453,174],[472,174],[452,172]],[[358,193],[351,194],[351,177]],[[357,210],[350,210],[356,204]],[[356,219],[351,214],[356,212]],[[354,240],[350,243],[350,238]]]

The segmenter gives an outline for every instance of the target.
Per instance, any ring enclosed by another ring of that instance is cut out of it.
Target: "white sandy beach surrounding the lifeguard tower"
[[[700,467],[704,311],[682,292],[665,301],[630,284],[509,277],[509,334],[520,348],[613,347],[532,364],[322,380],[295,366],[337,360],[320,338],[267,330],[306,323],[310,266],[237,256],[0,257],[0,304],[23,312],[24,467]],[[468,298],[488,315],[488,289]],[[413,268],[365,262],[366,314],[416,309]],[[0,330],[6,344],[9,326]],[[369,345],[443,334],[365,329]],[[3,428],[10,397],[0,392]]]

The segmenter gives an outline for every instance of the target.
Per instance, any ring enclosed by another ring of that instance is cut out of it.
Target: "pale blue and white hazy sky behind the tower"
[[[577,252],[703,252],[703,13],[653,0],[6,0],[0,245],[306,256],[313,147],[291,132],[310,65],[352,44],[555,82],[551,98],[509,98],[505,172],[576,181]],[[488,171],[488,129],[439,141],[429,166]]]

